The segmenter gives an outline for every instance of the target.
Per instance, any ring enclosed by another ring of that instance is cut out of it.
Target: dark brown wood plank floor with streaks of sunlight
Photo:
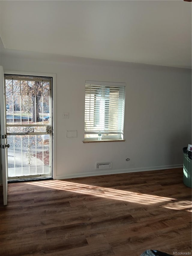
[[[0,254],[191,253],[191,189],[182,169],[8,184]]]

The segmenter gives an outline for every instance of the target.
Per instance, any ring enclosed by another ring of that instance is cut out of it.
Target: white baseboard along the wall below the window
[[[131,168],[131,169],[121,169],[121,170],[111,170],[111,169],[110,170],[109,169],[94,170],[92,172],[57,175],[56,179],[71,179],[71,178],[109,175],[109,174],[118,174],[118,173],[145,172],[145,171],[165,170],[165,169],[173,169],[173,168],[181,168],[181,167],[183,167],[183,164],[162,165],[162,166],[153,166],[153,167],[141,167],[141,168]]]

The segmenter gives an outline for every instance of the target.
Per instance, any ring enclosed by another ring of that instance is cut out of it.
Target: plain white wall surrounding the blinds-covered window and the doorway
[[[182,164],[182,148],[191,143],[190,69],[53,59],[4,53],[1,64],[4,70],[57,74],[57,178],[101,174],[95,170],[100,161],[112,161],[109,174]],[[85,80],[126,83],[125,142],[82,143]],[[62,119],[63,112],[69,119]],[[78,136],[67,138],[67,130]]]

